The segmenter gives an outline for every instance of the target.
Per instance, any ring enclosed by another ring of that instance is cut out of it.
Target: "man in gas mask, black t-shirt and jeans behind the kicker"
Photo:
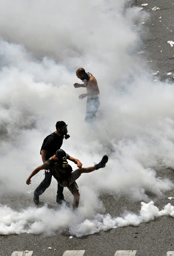
[[[40,150],[43,163],[46,162],[50,157],[52,157],[55,152],[61,148],[63,139],[68,139],[70,136],[67,134],[67,124],[63,121],[58,121],[56,123],[56,131],[49,134],[43,141],[43,145]],[[35,204],[39,204],[39,195],[42,195],[46,188],[51,184],[52,173],[48,168],[45,168],[45,178],[40,183],[40,185],[34,190],[33,201]],[[63,196],[63,187],[58,184],[56,202],[62,204],[63,202],[69,204]]]

